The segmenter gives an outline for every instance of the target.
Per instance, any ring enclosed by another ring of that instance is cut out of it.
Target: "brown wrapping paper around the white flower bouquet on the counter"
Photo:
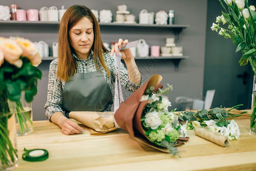
[[[137,89],[137,91],[135,91],[127,100],[120,104],[119,109],[117,109],[115,113],[115,120],[121,128],[127,131],[132,137],[135,137],[135,140],[139,143],[160,150],[161,152],[169,153],[168,149],[153,144],[148,140],[140,120],[142,111],[145,105],[149,102],[149,100],[140,101],[141,96],[143,96],[144,92],[152,86],[155,87],[155,92],[158,91],[159,88],[162,88],[162,84],[160,84],[161,80],[161,75],[153,75],[143,84],[143,86]],[[188,141],[188,139],[188,137],[178,139],[177,145],[184,144],[184,141]]]

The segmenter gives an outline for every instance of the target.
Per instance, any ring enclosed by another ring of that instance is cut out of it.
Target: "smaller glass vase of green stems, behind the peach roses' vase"
[[[24,92],[21,99],[15,102],[15,118],[17,136],[26,136],[33,131],[32,103],[25,100]]]

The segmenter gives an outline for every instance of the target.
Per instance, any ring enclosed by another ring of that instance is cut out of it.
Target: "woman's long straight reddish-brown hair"
[[[74,5],[67,9],[64,13],[59,26],[59,46],[58,46],[58,70],[57,76],[63,81],[72,79],[78,68],[76,67],[76,60],[72,56],[74,52],[69,41],[69,30],[76,25],[83,17],[87,17],[93,24],[94,29],[94,43],[92,44],[92,50],[94,50],[94,62],[97,70],[100,71],[100,64],[107,71],[109,70],[104,60],[104,52],[107,52],[107,48],[103,46],[100,36],[100,26],[97,22],[94,14],[86,6]]]

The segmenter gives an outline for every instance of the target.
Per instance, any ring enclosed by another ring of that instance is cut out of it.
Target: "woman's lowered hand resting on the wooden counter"
[[[72,121],[70,119],[63,120],[59,126],[60,128],[62,128],[62,133],[64,133],[64,135],[84,132],[84,129],[82,127],[80,127],[75,121]]]

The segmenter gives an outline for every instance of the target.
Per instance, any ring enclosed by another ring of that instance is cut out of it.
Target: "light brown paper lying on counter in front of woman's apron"
[[[73,111],[69,116],[93,129],[91,134],[107,133],[116,129],[113,112]]]

